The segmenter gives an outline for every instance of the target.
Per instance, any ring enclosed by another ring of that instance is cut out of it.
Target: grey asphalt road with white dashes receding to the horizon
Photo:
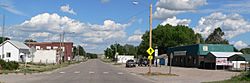
[[[31,75],[5,75],[6,83],[152,83],[100,60],[88,60],[52,73]]]

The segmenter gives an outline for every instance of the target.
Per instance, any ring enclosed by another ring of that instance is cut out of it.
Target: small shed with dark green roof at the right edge
[[[246,70],[249,68],[250,54],[235,54],[228,58],[233,64],[232,70]]]

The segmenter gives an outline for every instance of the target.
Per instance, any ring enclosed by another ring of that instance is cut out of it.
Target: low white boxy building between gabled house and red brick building
[[[34,63],[57,63],[56,50],[36,50],[34,52]]]

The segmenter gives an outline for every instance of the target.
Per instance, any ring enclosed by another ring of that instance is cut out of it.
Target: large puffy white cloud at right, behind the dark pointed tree
[[[206,38],[215,28],[221,27],[225,32],[224,38],[230,39],[250,31],[250,22],[239,14],[223,14],[215,12],[209,16],[201,17],[194,31]]]

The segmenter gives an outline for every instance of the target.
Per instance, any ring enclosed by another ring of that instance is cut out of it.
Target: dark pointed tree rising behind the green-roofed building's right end
[[[222,36],[224,35],[224,32],[221,30],[220,27],[216,28],[213,33],[211,33],[207,39],[205,40],[205,43],[207,44],[229,44],[228,40],[223,39]]]

